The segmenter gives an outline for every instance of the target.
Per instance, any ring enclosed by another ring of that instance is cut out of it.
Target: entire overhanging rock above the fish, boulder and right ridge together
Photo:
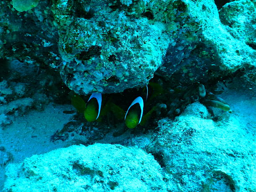
[[[223,26],[213,0],[66,0],[53,12],[61,76],[79,94],[144,86],[158,68],[168,80],[191,84],[255,67],[255,50]],[[253,17],[244,20],[252,26]]]

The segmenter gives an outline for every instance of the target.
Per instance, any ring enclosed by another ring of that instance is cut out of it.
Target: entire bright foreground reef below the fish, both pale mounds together
[[[215,122],[195,102],[121,145],[74,145],[9,164],[4,189],[254,191],[255,131],[242,118],[223,113]]]

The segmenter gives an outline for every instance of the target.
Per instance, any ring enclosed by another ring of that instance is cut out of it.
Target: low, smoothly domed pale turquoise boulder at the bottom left
[[[13,192],[166,191],[154,157],[121,145],[59,148],[6,169],[5,190]]]

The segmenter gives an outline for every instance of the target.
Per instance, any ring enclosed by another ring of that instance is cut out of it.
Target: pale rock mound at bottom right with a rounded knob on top
[[[253,126],[228,113],[218,122],[209,117],[193,103],[175,120],[159,122],[152,153],[172,176],[174,191],[255,191]]]

